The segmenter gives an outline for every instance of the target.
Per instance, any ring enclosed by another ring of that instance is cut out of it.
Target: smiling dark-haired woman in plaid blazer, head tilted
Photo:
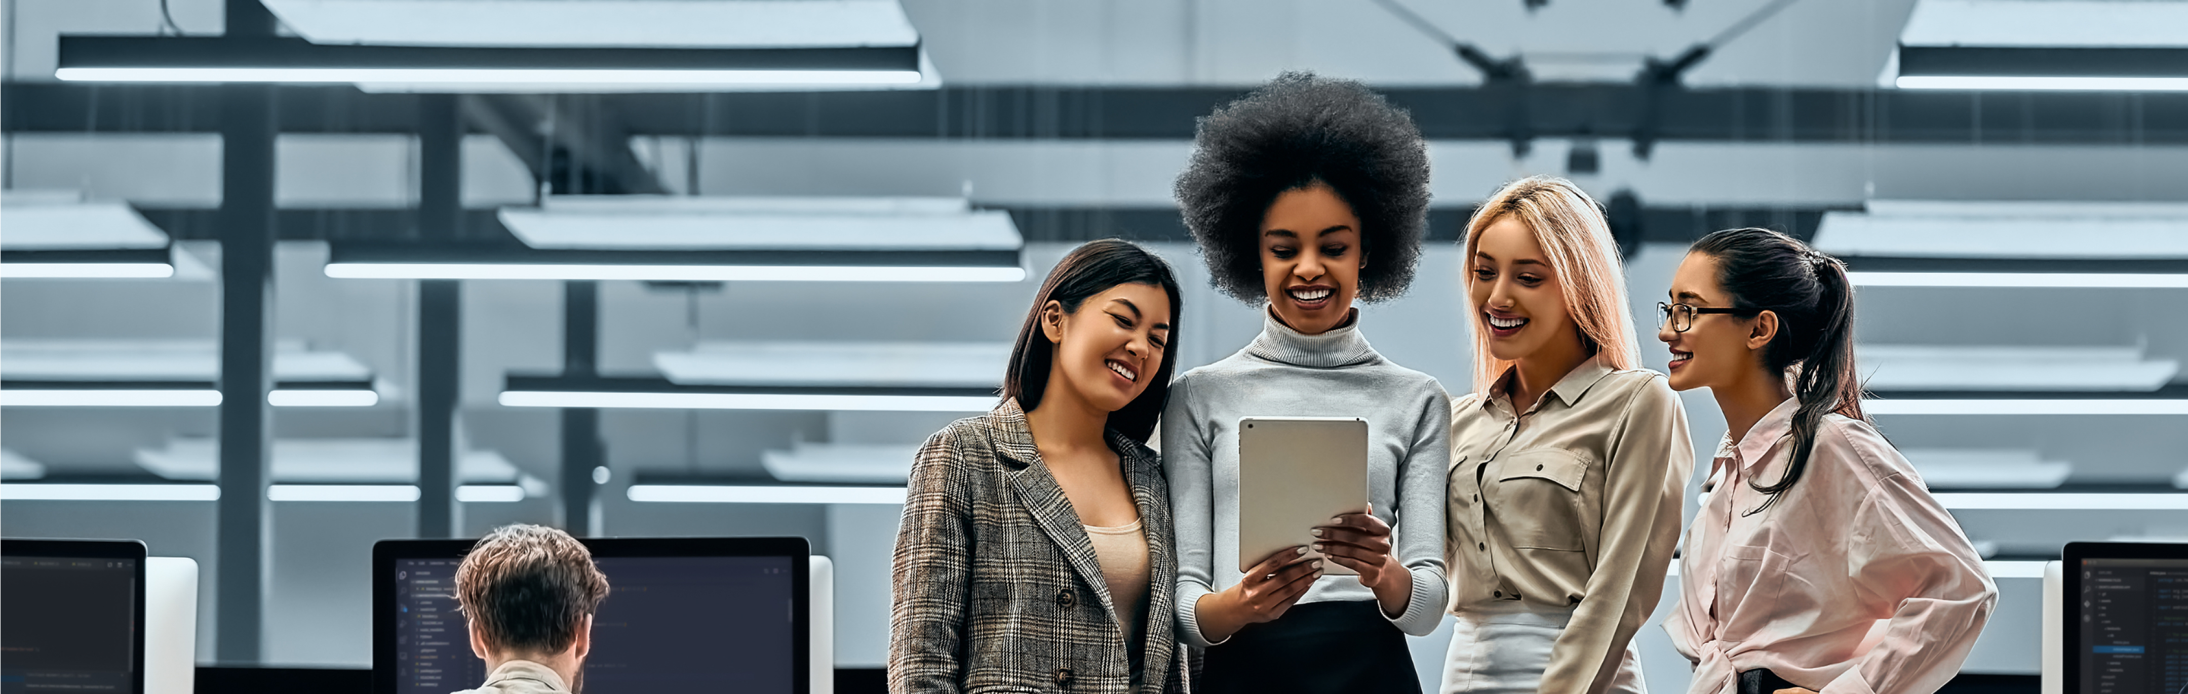
[[[1177,311],[1171,267],[1125,241],[1048,274],[1002,403],[912,462],[891,692],[1184,692],[1171,499],[1147,447]]]

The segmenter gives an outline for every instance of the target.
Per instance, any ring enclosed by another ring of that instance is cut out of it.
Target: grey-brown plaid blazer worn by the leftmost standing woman
[[[1142,692],[1184,692],[1171,493],[1149,447],[1109,433],[1147,532]],[[1131,692],[1094,543],[1015,398],[928,438],[897,530],[888,690]]]

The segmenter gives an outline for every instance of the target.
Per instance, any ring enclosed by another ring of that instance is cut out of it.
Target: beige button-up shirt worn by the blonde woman
[[[1451,611],[1573,609],[1540,692],[1604,692],[1678,547],[1687,412],[1663,374],[1588,359],[1518,414],[1514,377],[1451,405]]]

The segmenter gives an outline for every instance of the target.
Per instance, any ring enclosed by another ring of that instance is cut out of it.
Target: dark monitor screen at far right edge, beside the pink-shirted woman
[[[2188,558],[2081,563],[2081,692],[2188,690]]]

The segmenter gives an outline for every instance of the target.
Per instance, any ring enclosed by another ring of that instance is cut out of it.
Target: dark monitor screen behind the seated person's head
[[[602,556],[586,694],[790,692],[788,556]],[[396,560],[396,683],[449,694],[486,681],[455,602],[455,558]]]

